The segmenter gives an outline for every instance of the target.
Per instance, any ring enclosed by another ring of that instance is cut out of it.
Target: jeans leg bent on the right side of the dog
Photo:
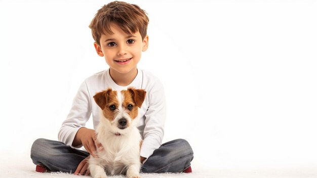
[[[182,172],[190,166],[193,152],[184,139],[176,139],[154,150],[142,165],[143,173]]]

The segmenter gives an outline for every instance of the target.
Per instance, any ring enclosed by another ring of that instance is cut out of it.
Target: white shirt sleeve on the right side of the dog
[[[145,113],[144,139],[140,151],[140,155],[146,159],[162,145],[164,136],[166,100],[164,87],[160,81],[155,82],[153,88],[148,92],[148,98],[149,106]]]

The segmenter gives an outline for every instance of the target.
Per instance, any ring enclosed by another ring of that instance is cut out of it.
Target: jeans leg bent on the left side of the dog
[[[44,165],[51,171],[73,173],[88,152],[73,149],[60,141],[44,138],[36,139],[31,148],[31,159],[34,164]]]

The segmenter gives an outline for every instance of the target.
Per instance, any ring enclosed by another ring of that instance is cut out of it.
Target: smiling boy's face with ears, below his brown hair
[[[148,47],[148,36],[142,39],[140,32],[125,33],[117,25],[111,25],[113,34],[101,35],[100,46],[96,43],[97,54],[104,57],[111,75],[135,74],[142,51]]]

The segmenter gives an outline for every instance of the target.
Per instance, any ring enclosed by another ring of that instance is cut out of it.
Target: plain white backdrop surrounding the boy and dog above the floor
[[[188,140],[196,167],[317,167],[317,1],[128,2],[150,19],[139,67],[164,83],[164,142]],[[4,159],[56,140],[108,68],[88,27],[106,3],[0,0]]]

